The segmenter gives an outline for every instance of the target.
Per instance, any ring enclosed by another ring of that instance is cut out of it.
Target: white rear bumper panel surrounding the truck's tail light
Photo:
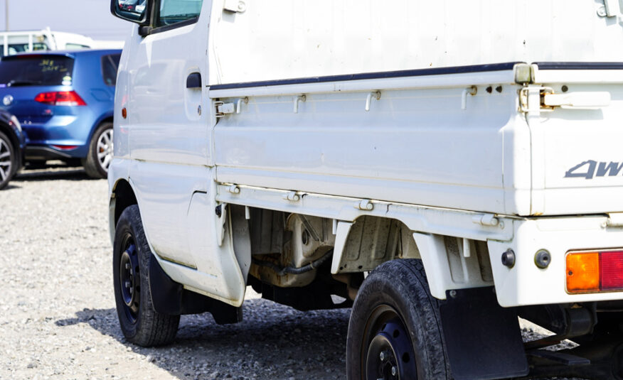
[[[504,307],[622,300],[623,291],[572,294],[567,291],[565,256],[569,251],[623,248],[623,228],[607,227],[607,215],[547,217],[513,221],[511,241],[489,240],[489,256],[496,294]],[[512,268],[502,254],[512,249]],[[538,251],[550,253],[550,264],[539,268]]]

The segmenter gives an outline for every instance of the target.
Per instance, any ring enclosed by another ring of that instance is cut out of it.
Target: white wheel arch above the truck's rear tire
[[[421,259],[427,285],[438,299],[446,299],[452,289],[494,285],[486,241],[418,232],[386,217],[337,223],[331,273],[372,271],[395,259]]]

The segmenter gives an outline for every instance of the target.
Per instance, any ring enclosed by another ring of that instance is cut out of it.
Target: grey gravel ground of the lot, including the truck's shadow
[[[176,343],[124,340],[107,183],[26,170],[0,192],[0,379],[344,379],[350,310],[301,313],[250,289],[245,321],[183,316]],[[524,323],[526,338],[540,330]]]

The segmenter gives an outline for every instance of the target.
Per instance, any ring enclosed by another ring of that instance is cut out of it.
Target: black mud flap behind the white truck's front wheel
[[[199,293],[187,291],[164,273],[156,257],[149,260],[149,291],[151,304],[158,313],[169,315],[210,312],[219,325],[243,320],[242,308],[220,302]]]

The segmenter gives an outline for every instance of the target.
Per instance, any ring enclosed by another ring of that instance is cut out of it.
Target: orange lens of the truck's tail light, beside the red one
[[[569,293],[600,291],[599,252],[567,255],[567,291]]]

